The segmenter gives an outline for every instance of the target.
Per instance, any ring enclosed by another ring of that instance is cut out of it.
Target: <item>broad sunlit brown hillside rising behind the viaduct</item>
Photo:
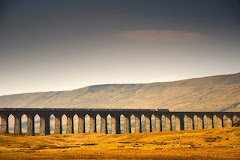
[[[240,111],[240,73],[149,84],[107,84],[72,91],[0,96],[1,108],[168,108]]]

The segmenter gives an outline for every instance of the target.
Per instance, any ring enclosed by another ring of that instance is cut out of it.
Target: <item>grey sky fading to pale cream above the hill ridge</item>
[[[1,0],[0,95],[240,72],[239,0]]]

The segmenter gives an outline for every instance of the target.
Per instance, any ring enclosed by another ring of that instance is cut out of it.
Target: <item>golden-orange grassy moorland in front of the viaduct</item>
[[[240,128],[0,136],[0,159],[240,159]]]

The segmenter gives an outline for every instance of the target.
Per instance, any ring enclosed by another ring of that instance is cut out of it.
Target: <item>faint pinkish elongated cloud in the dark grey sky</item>
[[[141,41],[191,42],[210,39],[198,32],[175,30],[131,30],[118,34],[121,38]]]

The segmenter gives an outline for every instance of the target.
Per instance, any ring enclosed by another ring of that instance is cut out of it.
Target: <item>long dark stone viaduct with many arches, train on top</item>
[[[73,117],[77,115],[78,133],[86,133],[85,123],[89,123],[89,133],[120,134],[232,127],[239,120],[240,112],[170,112],[166,109],[0,108],[1,134],[9,133],[10,115],[14,116],[14,134],[22,134],[21,119],[23,115],[26,115],[27,135],[33,136],[35,135],[34,119],[36,115],[40,117],[40,135],[50,134],[51,115],[55,117],[55,134],[62,134],[63,115],[67,117],[66,133],[74,133]],[[85,119],[86,115],[90,117],[88,122]],[[98,131],[97,116],[100,117]],[[110,120],[108,120],[109,117]],[[121,131],[121,128],[124,132]]]

